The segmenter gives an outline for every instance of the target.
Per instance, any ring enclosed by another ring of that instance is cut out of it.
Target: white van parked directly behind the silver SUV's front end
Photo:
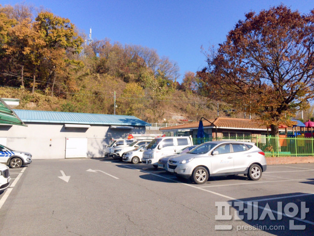
[[[191,136],[155,138],[143,153],[142,163],[151,164],[155,168],[162,157],[175,154],[178,150],[193,145]]]

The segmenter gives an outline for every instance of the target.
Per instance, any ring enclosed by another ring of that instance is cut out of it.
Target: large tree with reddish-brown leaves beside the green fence
[[[258,115],[275,136],[314,98],[314,10],[301,15],[281,4],[245,17],[198,76],[210,97]]]

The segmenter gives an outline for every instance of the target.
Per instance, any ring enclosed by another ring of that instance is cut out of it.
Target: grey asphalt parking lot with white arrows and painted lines
[[[269,165],[259,181],[242,175],[202,185],[110,158],[34,160],[10,174],[0,235],[314,232],[314,163]]]

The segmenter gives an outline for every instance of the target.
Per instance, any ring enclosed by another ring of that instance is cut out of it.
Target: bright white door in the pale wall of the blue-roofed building
[[[87,157],[87,138],[66,138],[65,158],[79,157]]]

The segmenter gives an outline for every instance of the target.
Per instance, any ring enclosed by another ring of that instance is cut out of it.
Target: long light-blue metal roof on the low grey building
[[[62,123],[62,124],[94,124],[94,125],[120,125],[120,126],[151,126],[149,123],[135,116],[106,115],[91,113],[17,110],[15,113],[24,122],[34,123]]]

